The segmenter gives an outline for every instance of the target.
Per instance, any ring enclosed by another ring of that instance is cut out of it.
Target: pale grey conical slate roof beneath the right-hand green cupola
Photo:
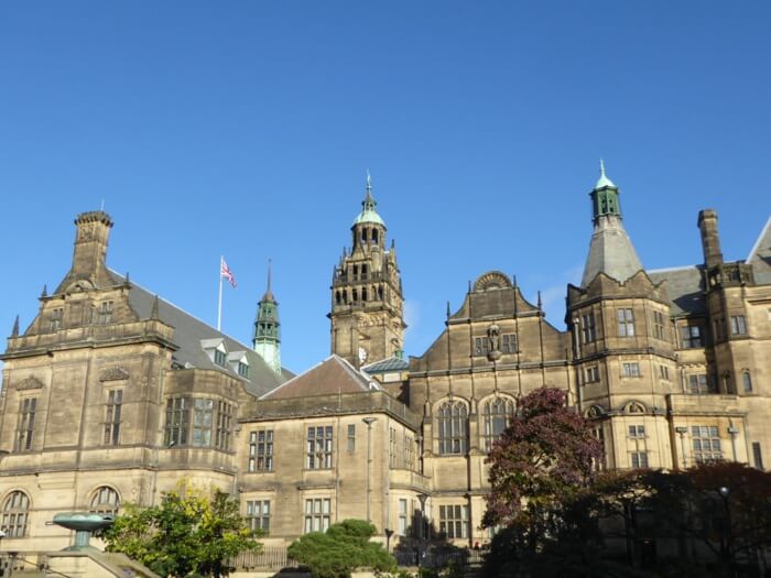
[[[580,286],[586,287],[601,272],[618,282],[625,282],[642,269],[634,247],[616,216],[601,216],[589,242]]]

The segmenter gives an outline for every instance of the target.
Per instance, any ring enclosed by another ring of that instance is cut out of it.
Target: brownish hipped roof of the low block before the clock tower
[[[377,383],[357,371],[348,361],[333,355],[260,399],[312,397],[337,393],[361,393],[379,389]]]

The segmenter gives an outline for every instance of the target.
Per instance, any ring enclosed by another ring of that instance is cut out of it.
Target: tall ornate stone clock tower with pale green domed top
[[[386,223],[376,210],[372,179],[332,277],[332,352],[359,368],[401,357],[404,345],[402,281],[393,241],[386,249]]]

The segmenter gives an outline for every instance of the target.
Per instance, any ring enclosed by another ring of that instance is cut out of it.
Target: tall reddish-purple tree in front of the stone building
[[[533,566],[535,557],[569,552],[572,539],[579,556],[599,541],[595,521],[583,515],[578,504],[587,506],[583,502],[602,447],[565,402],[565,392],[552,388],[521,397],[511,424],[493,444],[487,458],[491,488],[482,524],[506,531],[493,541],[491,560]],[[543,560],[541,565],[545,567]]]

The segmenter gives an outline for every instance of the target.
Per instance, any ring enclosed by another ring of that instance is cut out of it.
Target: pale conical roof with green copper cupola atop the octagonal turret
[[[598,273],[605,273],[622,283],[642,269],[621,222],[619,193],[619,188],[605,174],[605,163],[600,160],[599,179],[589,193],[595,230],[589,243],[582,287],[591,283]]]

